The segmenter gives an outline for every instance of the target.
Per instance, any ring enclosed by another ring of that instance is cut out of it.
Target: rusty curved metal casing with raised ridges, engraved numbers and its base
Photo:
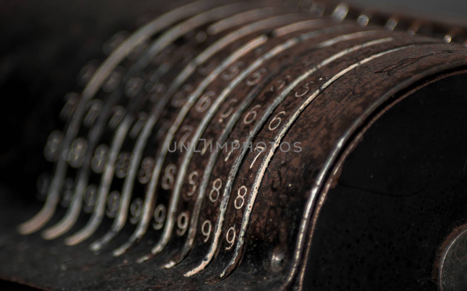
[[[347,290],[353,278],[320,269],[334,257],[313,244],[333,229],[320,213],[342,206],[327,196],[395,100],[465,82],[465,31],[332,2],[173,6],[103,43],[54,110],[26,182],[42,208],[2,204],[0,277],[43,290]],[[462,286],[446,249],[461,243],[439,240],[423,265],[438,285],[414,288]]]

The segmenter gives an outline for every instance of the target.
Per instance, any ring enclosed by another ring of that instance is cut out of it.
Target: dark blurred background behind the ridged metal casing
[[[308,1],[310,0],[300,0]],[[77,75],[91,60],[103,61],[102,47],[115,33],[134,31],[156,15],[155,0],[0,0],[0,189],[2,199],[35,202],[43,145],[56,129],[68,92],[83,87]],[[325,1],[327,2],[327,1]],[[333,1],[339,3],[337,1]],[[466,0],[349,0],[364,10],[464,23]],[[16,195],[25,193],[25,195]],[[23,204],[25,205],[25,204]]]

